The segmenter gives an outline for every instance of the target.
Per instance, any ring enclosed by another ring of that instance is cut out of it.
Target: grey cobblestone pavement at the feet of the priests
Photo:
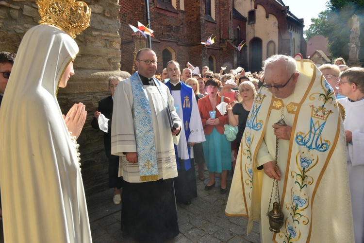
[[[205,176],[208,178],[207,172]],[[229,172],[228,185],[231,185],[231,180],[232,175]],[[171,242],[259,243],[259,224],[254,223],[247,236],[247,218],[225,215],[228,193],[220,194],[219,185],[210,191],[204,191],[204,187],[204,182],[197,178],[198,197],[192,199],[189,206],[177,203],[180,234]],[[114,205],[112,197],[113,189],[86,197],[93,242],[132,243],[122,238],[121,204]]]

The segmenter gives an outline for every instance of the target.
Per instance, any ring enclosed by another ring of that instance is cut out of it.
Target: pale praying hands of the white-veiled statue
[[[68,131],[75,136],[76,139],[81,134],[83,124],[86,121],[87,111],[85,111],[85,105],[82,103],[74,104],[68,111],[67,115],[63,115],[63,119],[66,122]]]

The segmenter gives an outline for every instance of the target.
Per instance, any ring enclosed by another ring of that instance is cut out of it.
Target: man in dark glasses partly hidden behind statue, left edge
[[[13,68],[15,54],[10,52],[0,52],[0,105],[2,96],[5,92],[5,87],[8,83],[11,69]],[[0,192],[1,195],[1,192]],[[1,211],[1,196],[0,196],[0,243],[4,242],[4,234],[2,232],[2,211]]]

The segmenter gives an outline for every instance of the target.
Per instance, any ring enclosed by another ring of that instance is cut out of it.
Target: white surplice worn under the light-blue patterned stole
[[[168,87],[165,84],[161,85],[162,88],[166,89],[172,121],[182,126],[182,121],[176,113],[174,100],[169,93]],[[174,178],[178,176],[173,146],[173,137],[176,136],[172,136],[165,103],[158,88],[156,86],[144,87],[148,94],[152,114],[155,149],[158,160],[158,179]],[[142,182],[140,181],[138,163],[129,163],[123,154],[126,152],[137,152],[130,78],[121,81],[116,87],[113,114],[111,124],[111,154],[120,156],[119,176],[123,176],[123,179],[127,182]]]

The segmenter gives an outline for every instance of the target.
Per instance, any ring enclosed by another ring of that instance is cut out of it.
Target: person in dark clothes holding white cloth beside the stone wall
[[[91,126],[95,129],[99,128],[99,116],[102,114],[107,119],[110,119],[108,123],[108,131],[104,133],[104,145],[105,153],[109,158],[109,188],[114,188],[114,204],[120,204],[121,202],[121,187],[123,177],[118,177],[119,171],[119,156],[111,155],[111,121],[113,118],[113,104],[114,104],[114,91],[117,84],[122,80],[119,76],[111,76],[109,78],[109,90],[111,96],[99,101],[99,108],[95,112],[95,117],[91,122]]]

